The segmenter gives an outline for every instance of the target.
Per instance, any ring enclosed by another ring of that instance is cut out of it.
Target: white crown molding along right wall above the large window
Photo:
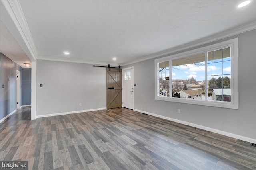
[[[159,53],[154,53],[152,55],[147,55],[145,57],[141,57],[140,59],[132,61],[130,63],[122,63],[122,66],[138,63],[138,62],[149,60],[149,59],[154,59],[156,57],[164,57],[164,56],[167,56],[167,55],[171,55],[172,53],[176,53],[176,52],[186,50],[186,49],[190,49],[190,48],[193,48],[193,47],[198,47],[200,45],[204,45],[204,44],[207,44],[207,43],[218,41],[218,40],[221,40],[221,39],[224,39],[224,38],[232,37],[234,35],[238,35],[240,33],[251,31],[253,29],[256,29],[256,21],[247,23],[245,25],[240,25],[238,27],[235,27],[235,28],[232,28],[232,29],[229,29],[229,30],[226,30],[226,31],[222,31],[220,33],[217,33],[217,34],[214,34],[214,35],[202,38],[202,39],[198,39],[196,41],[192,41],[192,42],[189,42],[189,43],[186,43],[186,44],[183,44],[183,45],[179,45],[179,46],[161,51]]]

